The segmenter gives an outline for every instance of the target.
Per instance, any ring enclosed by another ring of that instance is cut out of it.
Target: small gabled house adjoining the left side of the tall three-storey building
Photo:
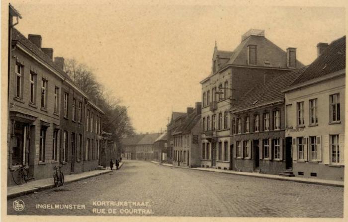
[[[181,124],[174,131],[173,165],[200,166],[201,109],[200,102],[196,103],[195,108],[188,107]]]

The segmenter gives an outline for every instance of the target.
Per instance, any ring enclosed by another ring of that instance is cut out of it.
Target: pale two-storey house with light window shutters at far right
[[[346,36],[317,48],[318,58],[284,90],[286,146],[296,176],[344,180]]]

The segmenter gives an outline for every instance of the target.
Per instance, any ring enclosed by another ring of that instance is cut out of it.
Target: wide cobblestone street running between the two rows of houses
[[[119,171],[7,201],[9,215],[141,216],[126,206],[93,206],[93,201],[149,202],[147,216],[343,217],[342,187],[202,172],[126,160]],[[25,209],[16,212],[14,200]],[[99,202],[101,203],[101,202]],[[81,204],[86,209],[36,209],[37,204]],[[108,214],[108,209],[116,214]],[[135,212],[135,213],[134,213]],[[122,214],[123,213],[123,214]]]

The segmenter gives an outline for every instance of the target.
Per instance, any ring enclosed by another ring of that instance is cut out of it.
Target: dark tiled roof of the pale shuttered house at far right
[[[333,41],[292,85],[346,69],[346,36]]]

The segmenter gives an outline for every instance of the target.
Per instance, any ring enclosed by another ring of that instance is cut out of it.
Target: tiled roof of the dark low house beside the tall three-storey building
[[[273,101],[275,102],[283,100],[284,93],[282,92],[282,90],[285,87],[288,87],[293,81],[298,78],[298,76],[305,72],[307,67],[303,67],[286,74],[278,75],[277,77],[270,79],[266,84],[255,86],[253,89],[242,96],[234,112],[261,106]]]

